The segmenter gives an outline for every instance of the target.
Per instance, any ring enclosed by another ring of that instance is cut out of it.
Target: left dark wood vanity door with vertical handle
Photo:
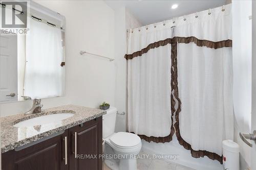
[[[66,137],[66,141],[65,141]],[[65,147],[65,142],[67,147]],[[68,130],[2,154],[3,170],[67,170]],[[65,159],[66,149],[66,159]],[[65,163],[66,162],[66,163]]]

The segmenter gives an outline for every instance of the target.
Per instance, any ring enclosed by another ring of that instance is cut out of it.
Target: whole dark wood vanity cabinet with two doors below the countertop
[[[91,154],[102,154],[102,117],[3,153],[2,169],[102,169],[102,159],[86,157]]]

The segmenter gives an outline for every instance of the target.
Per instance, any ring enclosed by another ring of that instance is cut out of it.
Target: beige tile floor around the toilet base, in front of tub
[[[145,153],[140,153],[145,154]],[[196,170],[160,159],[137,159],[138,170]],[[111,170],[105,164],[103,170]]]

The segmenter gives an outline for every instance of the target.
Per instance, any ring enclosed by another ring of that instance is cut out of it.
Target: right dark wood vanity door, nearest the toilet
[[[102,170],[102,117],[69,129],[69,137],[69,169]]]

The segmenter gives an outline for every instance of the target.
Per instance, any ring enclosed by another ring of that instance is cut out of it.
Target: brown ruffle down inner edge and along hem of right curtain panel
[[[186,149],[190,150],[190,153],[192,157],[194,158],[199,158],[199,157],[204,157],[207,156],[208,158],[212,160],[218,160],[222,164],[222,156],[219,156],[216,153],[211,153],[208,151],[195,151],[191,148],[191,145],[187,143],[180,135],[180,128],[179,128],[179,113],[181,111],[181,101],[179,99],[179,90],[178,90],[178,69],[177,69],[177,42],[172,44],[172,63],[173,63],[173,72],[174,74],[174,81],[173,81],[173,86],[174,86],[174,96],[176,100],[178,101],[178,108],[175,113],[175,119],[176,123],[174,125],[175,130],[176,130],[176,136],[178,138],[179,143]]]

